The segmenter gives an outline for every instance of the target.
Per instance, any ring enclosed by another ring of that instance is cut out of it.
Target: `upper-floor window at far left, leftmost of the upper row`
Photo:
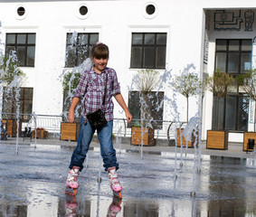
[[[16,52],[19,66],[34,66],[35,33],[7,33],[5,53]]]

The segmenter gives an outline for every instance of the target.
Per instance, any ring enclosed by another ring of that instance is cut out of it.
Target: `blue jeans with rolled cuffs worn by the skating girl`
[[[119,169],[119,164],[117,163],[116,150],[112,144],[112,129],[113,121],[109,121],[102,127],[97,128],[97,134],[100,141],[100,151],[103,158],[105,171],[108,171],[109,167],[116,166]],[[84,122],[84,118],[81,117],[80,132],[77,141],[77,146],[73,151],[71,156],[70,169],[73,166],[79,166],[80,171],[83,168],[83,163],[86,154],[89,150],[90,142],[96,129],[90,127],[89,121]]]

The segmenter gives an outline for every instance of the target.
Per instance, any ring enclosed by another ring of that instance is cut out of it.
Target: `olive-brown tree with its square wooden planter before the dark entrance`
[[[204,80],[204,85],[207,90],[213,92],[213,95],[218,98],[217,109],[217,130],[207,130],[206,148],[213,149],[228,149],[228,131],[220,130],[221,126],[221,99],[227,96],[227,88],[234,84],[234,79],[231,75],[222,71],[215,71],[213,76],[207,77]]]

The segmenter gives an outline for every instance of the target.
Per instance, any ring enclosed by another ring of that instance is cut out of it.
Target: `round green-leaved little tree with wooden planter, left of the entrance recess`
[[[197,75],[194,73],[182,73],[180,76],[175,77],[174,88],[177,92],[185,96],[186,98],[186,121],[188,123],[188,112],[189,112],[189,97],[194,96],[198,93],[198,90],[201,88],[201,82]],[[193,130],[192,135],[189,139],[185,139],[183,133],[185,128],[177,128],[176,131],[176,146],[187,146],[193,147],[195,143],[194,133],[198,134],[196,129]],[[198,143],[196,143],[197,145]]]

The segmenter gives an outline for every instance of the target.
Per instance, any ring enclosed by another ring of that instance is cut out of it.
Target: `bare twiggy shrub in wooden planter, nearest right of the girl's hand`
[[[131,145],[154,146],[155,130],[152,127],[152,115],[148,106],[149,92],[159,83],[159,72],[155,70],[141,70],[137,72],[135,86],[140,94],[140,121],[131,128]]]

